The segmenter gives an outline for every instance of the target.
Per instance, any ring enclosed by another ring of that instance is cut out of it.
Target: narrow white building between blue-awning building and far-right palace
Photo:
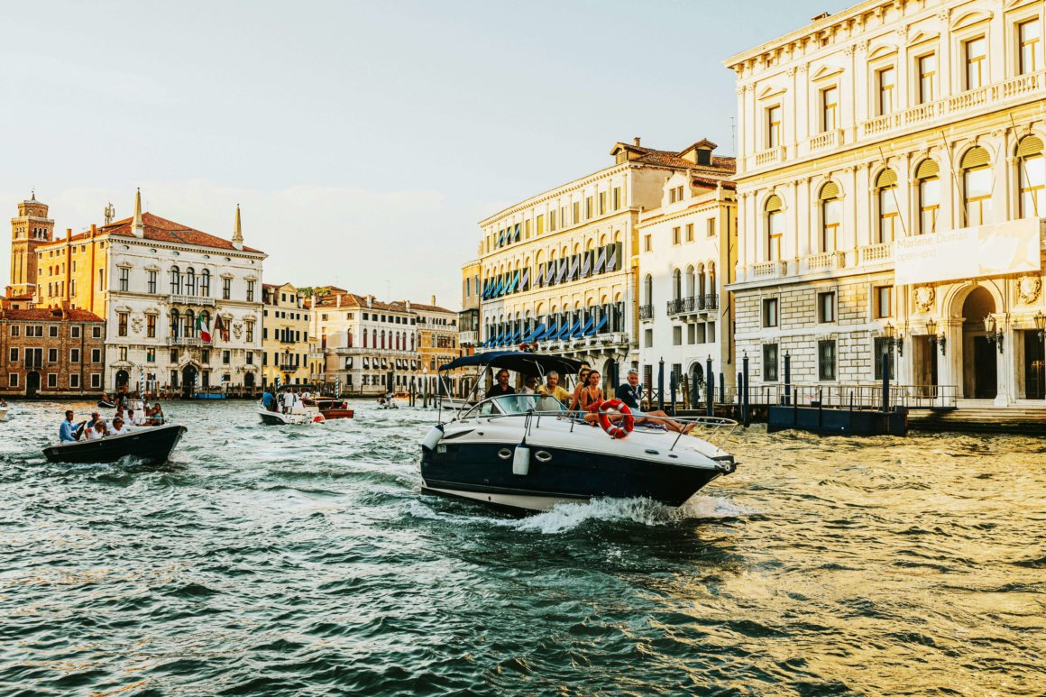
[[[670,378],[697,384],[703,399],[707,359],[712,373],[732,387],[736,367],[733,307],[724,291],[737,253],[733,159],[711,153],[715,143],[697,143],[700,171],[674,172],[660,205],[639,213],[639,362],[642,381],[657,386],[664,361],[665,401]],[[715,378],[713,378],[715,379]],[[719,390],[718,379],[715,389]],[[688,390],[689,391],[689,390]],[[682,392],[678,394],[682,401]]]

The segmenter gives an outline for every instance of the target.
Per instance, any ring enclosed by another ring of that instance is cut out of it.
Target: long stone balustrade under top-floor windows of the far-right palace
[[[968,112],[1000,108],[1008,102],[1038,99],[1041,98],[1043,90],[1046,90],[1046,70],[1010,77],[893,114],[877,116],[862,122],[860,132],[864,137],[880,136],[907,127],[919,127],[933,120],[948,119],[949,116],[959,117]],[[756,155],[756,166],[758,166],[757,158],[758,155]]]

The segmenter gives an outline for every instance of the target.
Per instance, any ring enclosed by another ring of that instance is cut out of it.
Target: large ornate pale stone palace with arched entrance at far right
[[[1044,396],[1044,5],[864,2],[727,61],[753,381]]]

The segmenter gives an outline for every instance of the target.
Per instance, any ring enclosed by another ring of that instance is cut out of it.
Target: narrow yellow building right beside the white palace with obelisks
[[[262,385],[303,385],[323,373],[309,310],[292,284],[262,286]]]

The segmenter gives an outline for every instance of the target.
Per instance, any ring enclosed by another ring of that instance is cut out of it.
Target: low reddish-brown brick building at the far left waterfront
[[[0,395],[96,397],[103,392],[106,323],[87,310],[0,309]]]

